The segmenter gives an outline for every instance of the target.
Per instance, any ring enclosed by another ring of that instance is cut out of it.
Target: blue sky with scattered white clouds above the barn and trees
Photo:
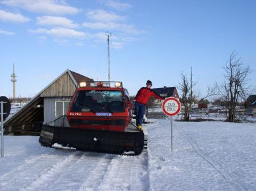
[[[191,66],[202,96],[223,81],[233,50],[255,87],[256,1],[0,0],[0,96],[35,96],[70,69],[121,80],[130,95],[145,82],[179,86]],[[256,93],[256,92],[254,92]]]

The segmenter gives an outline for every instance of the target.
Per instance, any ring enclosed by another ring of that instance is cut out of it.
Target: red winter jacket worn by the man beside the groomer
[[[155,98],[158,98],[160,100],[164,100],[164,97],[158,95],[157,93],[155,93],[152,89],[150,88],[146,88],[146,87],[143,87],[141,88],[137,95],[135,96],[135,100],[136,102],[138,103],[141,103],[143,105],[147,105],[148,103],[148,100],[151,96],[154,96]]]

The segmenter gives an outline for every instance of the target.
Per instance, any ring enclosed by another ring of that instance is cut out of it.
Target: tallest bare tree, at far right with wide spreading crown
[[[248,74],[251,72],[249,66],[244,66],[241,57],[237,57],[235,51],[230,54],[229,60],[223,66],[225,80],[221,84],[220,93],[225,99],[226,116],[229,122],[236,118],[236,107],[239,101],[246,99]]]

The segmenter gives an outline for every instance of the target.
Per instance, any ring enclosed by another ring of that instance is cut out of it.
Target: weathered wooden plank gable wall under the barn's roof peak
[[[68,73],[56,80],[49,88],[41,93],[41,97],[73,96],[76,86]]]

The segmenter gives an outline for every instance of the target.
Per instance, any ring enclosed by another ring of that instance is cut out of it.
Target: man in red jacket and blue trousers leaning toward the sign
[[[150,89],[152,86],[152,82],[150,80],[147,80],[146,85],[147,87],[142,87],[134,98],[134,101],[135,101],[134,106],[135,106],[135,112],[136,112],[136,125],[139,130],[142,130],[141,123],[143,121],[143,116],[146,111],[146,105],[150,97],[154,96],[155,98],[164,100],[164,97],[158,95],[152,89]]]

